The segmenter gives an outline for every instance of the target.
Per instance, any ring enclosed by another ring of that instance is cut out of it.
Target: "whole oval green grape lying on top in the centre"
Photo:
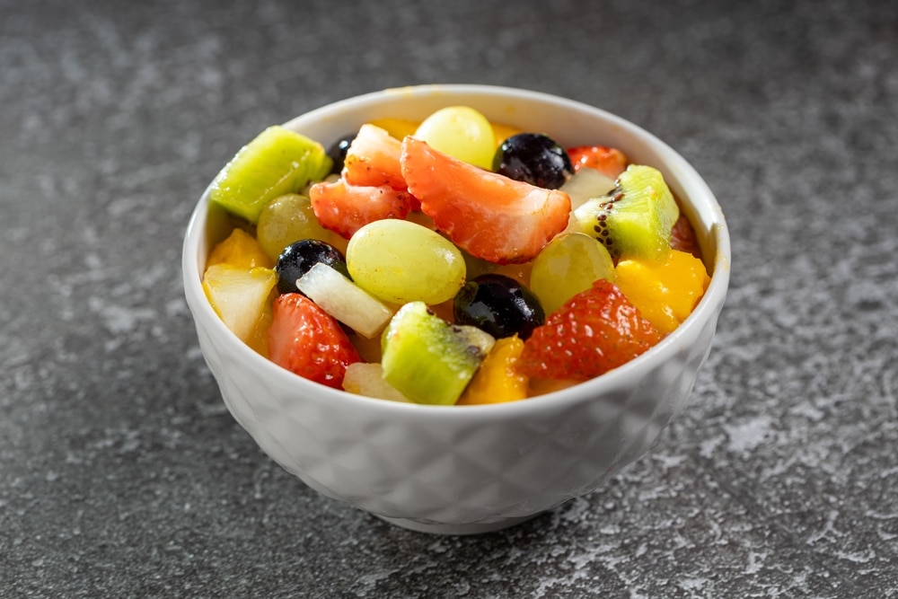
[[[441,304],[464,285],[462,252],[427,227],[384,219],[349,240],[347,267],[357,286],[384,302]]]

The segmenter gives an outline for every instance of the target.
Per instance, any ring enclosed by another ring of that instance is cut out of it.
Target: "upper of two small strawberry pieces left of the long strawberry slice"
[[[401,142],[370,123],[358,129],[346,151],[341,176],[352,185],[405,190],[400,167]]]

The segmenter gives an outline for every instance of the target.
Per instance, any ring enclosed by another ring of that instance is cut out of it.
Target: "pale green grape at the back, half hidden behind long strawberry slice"
[[[496,137],[489,120],[467,106],[436,110],[418,126],[415,137],[431,147],[488,171],[496,154]]]

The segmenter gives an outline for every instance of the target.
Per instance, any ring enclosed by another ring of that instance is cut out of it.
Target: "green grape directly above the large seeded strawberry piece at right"
[[[600,278],[614,280],[614,262],[605,246],[585,233],[563,233],[533,260],[530,289],[548,315]]]

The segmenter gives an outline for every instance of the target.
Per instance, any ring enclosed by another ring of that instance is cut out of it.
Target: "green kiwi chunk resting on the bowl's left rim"
[[[331,160],[313,139],[274,125],[244,145],[218,173],[209,198],[255,224],[274,198],[296,193],[330,172]]]

